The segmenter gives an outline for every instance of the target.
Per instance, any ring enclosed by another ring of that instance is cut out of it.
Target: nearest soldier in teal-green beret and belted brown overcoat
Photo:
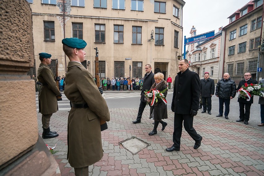
[[[62,43],[70,59],[64,94],[72,103],[68,116],[67,159],[75,175],[88,175],[88,166],[103,157],[100,120],[109,121],[110,113],[92,74],[81,64],[86,55],[86,42],[65,38]]]

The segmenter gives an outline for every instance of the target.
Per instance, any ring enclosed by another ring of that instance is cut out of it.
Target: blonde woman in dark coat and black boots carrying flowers
[[[164,75],[162,73],[156,73],[154,75],[155,83],[151,86],[151,89],[156,88],[156,90],[162,91],[167,88],[167,82],[164,80]],[[166,90],[163,95],[166,98],[166,95],[168,93],[168,90]],[[151,99],[148,99],[148,102],[150,102]],[[162,119],[168,118],[167,113],[167,104],[165,104],[162,99],[158,98],[158,102],[154,103],[153,106],[150,107],[150,114],[153,115],[154,119],[154,128],[152,132],[150,132],[148,135],[154,135],[157,134],[157,127],[159,123],[162,124],[162,131],[165,129],[165,127],[168,125],[165,121],[162,121]]]

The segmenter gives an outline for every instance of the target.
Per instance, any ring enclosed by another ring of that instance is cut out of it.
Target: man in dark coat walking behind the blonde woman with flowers
[[[141,122],[141,117],[143,114],[143,111],[146,107],[146,101],[145,101],[145,96],[144,96],[144,91],[146,90],[150,90],[152,84],[154,84],[155,80],[154,80],[154,73],[152,73],[151,71],[151,65],[147,64],[145,65],[145,71],[146,74],[143,78],[143,87],[142,87],[142,91],[141,91],[141,97],[140,97],[140,104],[139,104],[139,112],[138,112],[138,117],[135,121],[132,121],[133,123],[140,123]]]

